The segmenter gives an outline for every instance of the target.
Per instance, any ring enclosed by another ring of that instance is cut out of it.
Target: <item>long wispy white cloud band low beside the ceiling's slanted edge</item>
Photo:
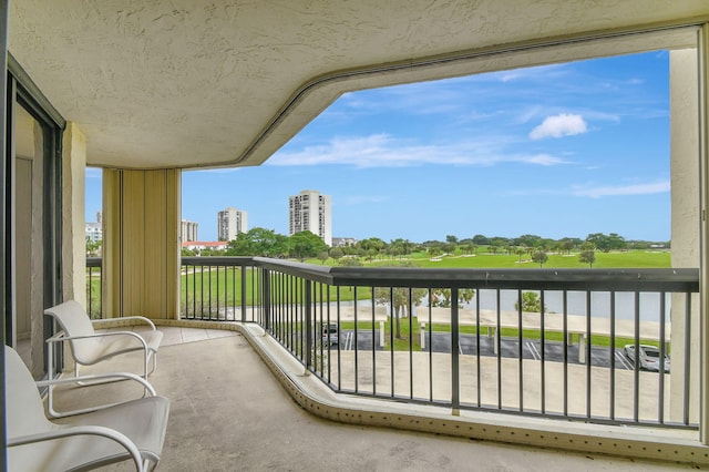
[[[535,165],[558,165],[567,161],[548,154],[508,154],[504,136],[444,144],[419,144],[397,140],[388,134],[336,137],[325,144],[300,151],[280,151],[268,165],[352,165],[356,167],[404,167],[422,164],[490,166],[503,162]]]

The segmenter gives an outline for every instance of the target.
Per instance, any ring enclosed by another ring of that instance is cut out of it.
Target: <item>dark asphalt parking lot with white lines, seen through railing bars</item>
[[[374,336],[379,340],[379,330],[376,330]],[[428,341],[428,335],[427,335]],[[433,352],[450,352],[451,351],[451,334],[450,332],[433,332],[431,334],[431,346]],[[502,338],[500,341],[500,352],[503,358],[517,359],[520,356],[520,341],[517,338]],[[372,349],[372,331],[358,331],[357,341],[354,340],[353,330],[343,330],[340,332],[340,349],[341,350],[371,350]],[[381,350],[377,342],[377,350]],[[428,351],[424,349],[424,351]],[[477,338],[474,335],[461,335],[459,352],[463,355],[474,356],[477,353]],[[494,338],[486,336],[480,337],[480,355],[481,356],[495,356],[494,352]],[[522,348],[523,359],[542,359],[542,342],[534,339],[524,339]],[[566,358],[568,363],[578,362],[578,345],[568,346],[566,348]],[[616,369],[633,370],[633,362],[623,353],[623,349],[615,350],[615,367]],[[546,341],[544,346],[544,360],[549,362],[563,362],[564,361],[564,343],[557,341]],[[595,367],[610,367],[610,352],[608,348],[592,347],[590,365]]]

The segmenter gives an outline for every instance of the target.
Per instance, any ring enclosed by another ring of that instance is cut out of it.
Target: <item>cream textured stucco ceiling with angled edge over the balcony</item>
[[[9,49],[85,133],[90,165],[257,165],[348,90],[643,50],[653,42],[527,49],[709,16],[706,0],[654,4],[22,0]]]

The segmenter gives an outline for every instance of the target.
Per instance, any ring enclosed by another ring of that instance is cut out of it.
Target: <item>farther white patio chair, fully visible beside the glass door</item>
[[[61,331],[47,340],[50,350],[53,342],[69,341],[72,357],[74,358],[74,377],[79,377],[79,366],[91,366],[103,360],[120,356],[126,352],[143,351],[143,378],[152,373],[157,367],[157,349],[163,339],[163,332],[155,329],[155,324],[142,316],[120,318],[121,320],[132,320],[145,322],[151,327],[150,331],[141,334],[134,331],[105,331],[96,332],[102,321],[91,321],[83,307],[69,300],[55,307],[44,310],[45,315],[52,316]],[[153,359],[153,368],[148,372],[150,359]],[[48,366],[50,369],[53,366]]]

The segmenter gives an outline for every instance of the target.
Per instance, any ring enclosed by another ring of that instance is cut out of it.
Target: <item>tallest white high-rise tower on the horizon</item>
[[[289,234],[309,230],[332,246],[332,205],[330,195],[316,191],[302,191],[289,197]]]

